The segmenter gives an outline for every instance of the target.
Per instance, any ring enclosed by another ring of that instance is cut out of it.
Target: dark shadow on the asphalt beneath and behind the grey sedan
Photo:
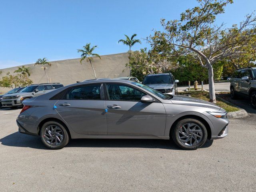
[[[208,148],[213,140],[207,140],[202,148]],[[46,149],[39,136],[30,136],[15,132],[0,139],[0,143],[13,147],[29,147]],[[66,147],[91,147],[91,148],[161,148],[171,150],[182,150],[175,146],[170,140],[158,139],[72,139]]]

